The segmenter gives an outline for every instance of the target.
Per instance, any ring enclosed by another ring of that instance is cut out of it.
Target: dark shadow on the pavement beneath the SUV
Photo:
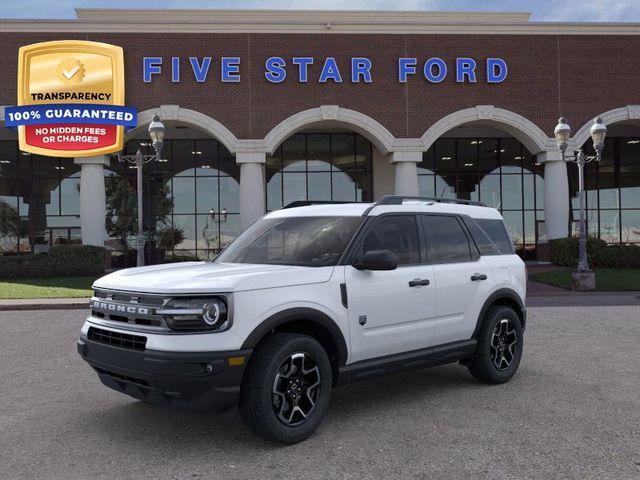
[[[334,389],[325,426],[353,428],[378,415],[388,415],[398,405],[420,405],[442,401],[451,389],[464,390],[480,385],[458,365],[385,375]],[[92,411],[92,417],[80,420],[81,428],[105,441],[124,446],[132,453],[153,446],[189,454],[210,455],[213,450],[247,449],[268,451],[284,448],[265,442],[254,435],[242,422],[236,408],[221,414],[196,414],[157,407],[145,402],[119,398],[117,405]]]

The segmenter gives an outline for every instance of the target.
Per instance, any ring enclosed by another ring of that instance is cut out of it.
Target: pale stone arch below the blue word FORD
[[[517,138],[529,152],[536,154],[554,147],[554,140],[527,118],[510,110],[493,105],[465,108],[441,118],[431,125],[421,137],[425,150],[452,128],[477,122],[495,126]]]

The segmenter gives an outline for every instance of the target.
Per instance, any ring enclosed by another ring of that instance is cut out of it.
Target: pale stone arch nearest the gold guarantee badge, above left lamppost
[[[160,118],[165,120],[175,120],[178,122],[189,123],[195,127],[204,130],[213,136],[216,140],[222,143],[231,153],[235,154],[237,149],[238,139],[236,136],[225,127],[222,123],[214,118],[211,118],[204,113],[183,108],[178,105],[161,105],[160,108],[152,108],[144,110],[138,113],[138,126],[127,132],[125,142],[133,138],[136,134],[140,133],[146,125],[151,123],[153,115],[157,113]]]

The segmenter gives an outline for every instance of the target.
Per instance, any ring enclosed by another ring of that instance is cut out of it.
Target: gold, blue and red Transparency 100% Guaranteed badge
[[[20,48],[18,106],[5,123],[18,128],[20,150],[88,157],[122,150],[124,128],[137,125],[124,106],[121,47],[63,40]]]

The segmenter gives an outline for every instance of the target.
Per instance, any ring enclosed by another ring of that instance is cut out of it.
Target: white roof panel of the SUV
[[[371,208],[373,207],[373,208]],[[367,210],[371,210],[367,212]],[[367,212],[370,216],[393,212],[415,213],[450,213],[469,215],[473,218],[502,219],[500,212],[492,207],[478,205],[464,205],[457,203],[438,203],[430,201],[406,201],[402,205],[376,205],[373,203],[341,203],[310,205],[306,207],[285,208],[275,210],[267,218],[286,217],[359,217]]]

